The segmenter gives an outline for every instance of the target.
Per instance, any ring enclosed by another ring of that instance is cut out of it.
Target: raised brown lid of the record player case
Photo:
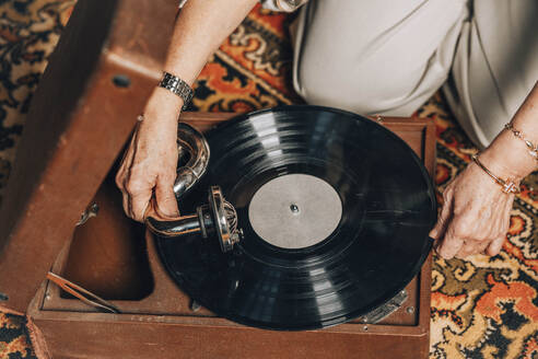
[[[169,0],[77,2],[0,208],[0,305],[24,312],[70,239],[161,77],[176,11]]]

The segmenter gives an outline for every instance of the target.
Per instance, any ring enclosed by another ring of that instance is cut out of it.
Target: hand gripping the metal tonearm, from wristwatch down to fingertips
[[[137,221],[142,222],[149,210],[162,217],[179,213],[173,188],[178,157],[177,118],[182,105],[179,96],[156,88],[121,161],[116,185],[124,196],[125,212]]]

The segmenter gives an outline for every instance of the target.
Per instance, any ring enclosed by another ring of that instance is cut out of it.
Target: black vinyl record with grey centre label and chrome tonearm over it
[[[237,116],[211,129],[209,144],[185,124],[178,132],[191,155],[176,196],[197,215],[148,225],[198,303],[245,325],[304,331],[375,323],[399,293],[405,302],[436,206],[421,161],[393,132],[316,106]]]

